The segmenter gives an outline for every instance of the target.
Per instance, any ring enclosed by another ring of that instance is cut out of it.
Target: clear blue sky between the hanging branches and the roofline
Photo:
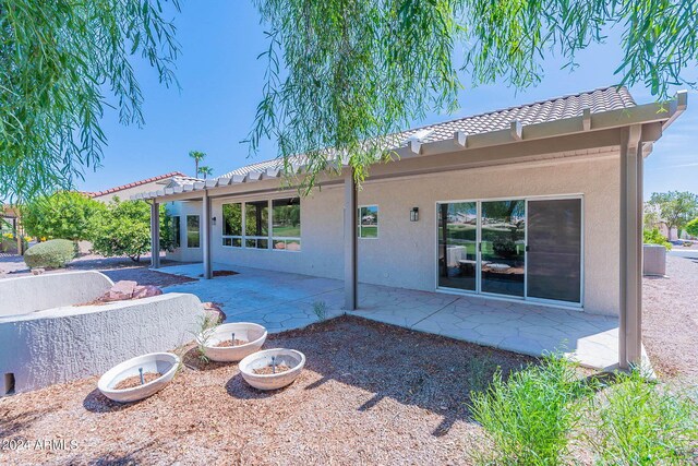
[[[252,2],[184,2],[174,22],[182,49],[177,61],[181,91],[161,86],[153,70],[135,63],[145,97],[146,123],[142,129],[124,127],[115,112],[105,116],[109,144],[101,167],[88,169],[85,180],[77,182],[81,190],[98,191],[168,171],[194,175],[194,164],[188,156],[191,150],[207,154],[203,165],[213,167],[214,176],[276,155],[269,144],[268,151],[251,160],[246,145],[240,143],[262,96],[264,62],[257,56],[267,46]],[[578,57],[580,67],[573,73],[559,70],[562,63],[555,57],[546,58],[545,77],[538,86],[518,92],[505,85],[467,88],[458,111],[430,113],[414,126],[613,84],[618,81],[613,71],[621,56],[615,44],[594,46]],[[631,92],[638,103],[652,99],[642,86]],[[698,191],[696,128],[698,93],[690,92],[688,110],[655,144],[647,162],[646,195],[653,191]]]

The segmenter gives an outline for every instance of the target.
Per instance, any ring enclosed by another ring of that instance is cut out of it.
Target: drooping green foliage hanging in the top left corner
[[[0,200],[70,189],[98,166],[105,106],[143,122],[132,58],[174,82],[165,2],[0,0]]]

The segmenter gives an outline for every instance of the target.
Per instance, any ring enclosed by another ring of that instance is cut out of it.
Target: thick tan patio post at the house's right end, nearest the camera
[[[642,127],[623,131],[621,141],[621,306],[618,366],[642,358]]]

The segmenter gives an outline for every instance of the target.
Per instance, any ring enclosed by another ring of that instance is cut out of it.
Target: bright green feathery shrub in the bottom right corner
[[[698,403],[682,389],[670,392],[634,371],[618,374],[597,403],[589,443],[599,464],[696,464]]]

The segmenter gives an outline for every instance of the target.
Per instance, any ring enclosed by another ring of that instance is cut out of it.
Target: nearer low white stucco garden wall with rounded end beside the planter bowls
[[[4,287],[3,282],[0,286]],[[53,289],[50,283],[48,291],[67,292]],[[132,357],[174,349],[194,338],[203,315],[196,296],[178,292],[0,314],[0,396],[100,374]]]

